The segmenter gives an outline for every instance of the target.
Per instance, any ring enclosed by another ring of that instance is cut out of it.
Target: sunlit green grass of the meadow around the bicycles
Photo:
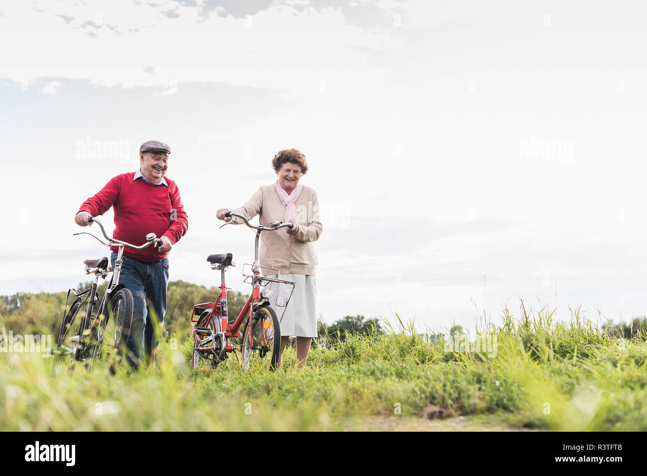
[[[483,325],[472,341],[496,338],[496,356],[446,352],[409,323],[313,349],[303,371],[287,349],[274,373],[243,371],[233,356],[192,369],[186,338],[164,342],[157,368],[135,375],[99,363],[54,378],[40,354],[0,353],[0,429],[362,429],[368,416],[439,405],[520,428],[647,430],[647,343],[606,335],[578,312],[553,318],[522,306],[520,319],[506,310],[501,327]]]

